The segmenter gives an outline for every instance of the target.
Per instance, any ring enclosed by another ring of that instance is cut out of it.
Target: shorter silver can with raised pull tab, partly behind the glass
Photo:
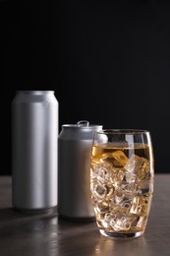
[[[90,152],[101,125],[62,125],[58,137],[58,214],[70,221],[94,220],[90,196]]]

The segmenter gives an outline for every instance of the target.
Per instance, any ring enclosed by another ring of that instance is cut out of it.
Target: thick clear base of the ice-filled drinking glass
[[[131,233],[121,233],[121,232],[108,232],[103,229],[99,230],[100,233],[104,236],[109,236],[114,239],[125,239],[125,238],[135,238],[139,237],[143,234],[144,231],[136,231],[136,232],[131,232]]]

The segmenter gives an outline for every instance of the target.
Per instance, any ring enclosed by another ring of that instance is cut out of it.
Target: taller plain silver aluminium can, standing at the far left
[[[57,206],[58,101],[54,91],[17,91],[12,101],[12,204],[24,212]]]

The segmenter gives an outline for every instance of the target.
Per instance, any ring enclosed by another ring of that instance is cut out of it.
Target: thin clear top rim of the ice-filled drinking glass
[[[150,133],[149,130],[146,129],[102,129],[96,131],[97,134],[143,134],[143,133]]]

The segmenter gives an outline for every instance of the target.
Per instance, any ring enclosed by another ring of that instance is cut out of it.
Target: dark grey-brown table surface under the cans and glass
[[[62,220],[57,209],[26,215],[14,211],[11,176],[0,176],[0,256],[170,256],[170,174],[156,174],[148,223],[141,237],[113,240],[95,222]]]

